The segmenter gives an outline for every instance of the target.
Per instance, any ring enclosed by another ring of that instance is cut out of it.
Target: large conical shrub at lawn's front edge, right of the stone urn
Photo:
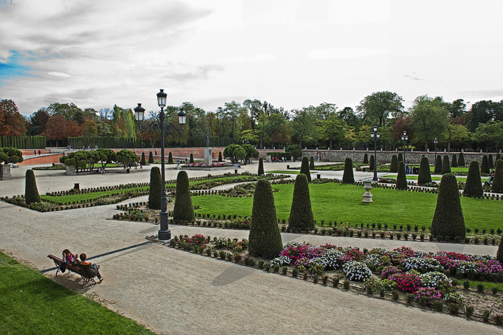
[[[461,209],[456,176],[446,173],[440,181],[437,207],[432,220],[432,235],[465,238],[465,219]]]

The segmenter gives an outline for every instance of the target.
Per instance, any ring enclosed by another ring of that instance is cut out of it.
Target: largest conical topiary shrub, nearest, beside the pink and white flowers
[[[253,208],[251,209],[248,252],[251,256],[272,259],[278,257],[282,249],[283,244],[276,218],[273,189],[269,181],[259,179],[255,187]]]

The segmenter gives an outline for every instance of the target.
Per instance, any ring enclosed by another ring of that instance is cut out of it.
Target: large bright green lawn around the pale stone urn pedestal
[[[279,219],[288,219],[293,198],[293,184],[273,185]],[[337,183],[310,184],[314,219],[349,221],[350,223],[411,224],[429,227],[437,204],[437,194],[372,188],[373,203],[362,203],[361,186]],[[192,197],[196,213],[250,216],[253,197],[223,197],[200,195]],[[466,227],[501,228],[500,213],[503,202],[499,200],[461,197]]]

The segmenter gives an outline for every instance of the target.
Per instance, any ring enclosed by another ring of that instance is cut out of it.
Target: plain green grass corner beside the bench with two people
[[[0,333],[153,334],[0,252]]]

